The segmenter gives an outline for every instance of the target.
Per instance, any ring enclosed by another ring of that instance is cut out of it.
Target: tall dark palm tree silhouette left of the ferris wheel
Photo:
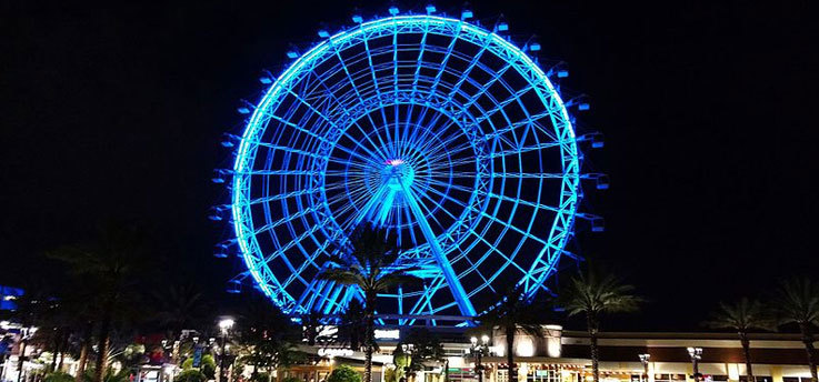
[[[66,248],[51,257],[63,261],[78,280],[93,285],[99,329],[94,382],[103,382],[113,325],[137,306],[134,285],[147,258],[142,232],[134,227],[103,227],[98,243]]]

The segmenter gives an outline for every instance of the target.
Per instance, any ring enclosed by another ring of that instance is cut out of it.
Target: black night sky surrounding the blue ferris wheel
[[[227,198],[210,174],[230,165],[219,138],[241,128],[238,100],[259,97],[260,70],[280,72],[289,43],[388,4],[0,2],[0,284],[126,218],[153,229],[168,267],[221,291],[239,264],[212,257],[224,229],[207,212]],[[605,329],[697,330],[721,300],[817,275],[809,1],[472,6],[503,13],[516,38],[539,36],[542,57],[569,63],[565,87],[591,97],[579,129],[605,133],[589,160],[611,189],[587,192],[607,231],[579,247],[650,300]]]

